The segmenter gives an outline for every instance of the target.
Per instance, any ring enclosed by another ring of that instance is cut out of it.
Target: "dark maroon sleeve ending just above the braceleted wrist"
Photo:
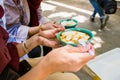
[[[9,66],[13,68],[15,71],[19,70],[19,55],[18,50],[16,47],[17,43],[8,43],[7,47],[11,56],[11,61],[9,63]]]

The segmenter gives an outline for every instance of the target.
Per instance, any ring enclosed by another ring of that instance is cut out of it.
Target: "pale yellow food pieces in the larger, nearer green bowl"
[[[65,31],[61,34],[60,39],[65,43],[79,44],[80,40],[87,42],[90,36],[79,31]]]

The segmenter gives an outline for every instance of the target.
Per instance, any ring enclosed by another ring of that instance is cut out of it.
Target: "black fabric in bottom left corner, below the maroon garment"
[[[20,76],[27,73],[31,68],[32,66],[26,60],[20,62],[18,72],[15,72],[9,66],[7,66],[0,74],[0,80],[17,80]]]

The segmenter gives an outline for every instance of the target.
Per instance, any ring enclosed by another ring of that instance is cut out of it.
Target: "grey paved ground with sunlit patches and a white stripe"
[[[79,21],[77,27],[89,29],[93,32],[92,43],[96,48],[96,55],[100,55],[116,47],[120,47],[120,8],[113,15],[109,15],[109,21],[105,30],[99,30],[99,17],[91,23],[89,16],[93,7],[88,0],[44,0],[43,14],[51,20],[59,23],[61,19],[74,18]],[[76,73],[81,80],[92,80],[83,70]]]

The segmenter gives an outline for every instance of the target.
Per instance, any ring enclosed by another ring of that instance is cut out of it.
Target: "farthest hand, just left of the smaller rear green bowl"
[[[55,22],[47,22],[46,24],[41,26],[42,30],[54,29],[54,28],[65,28],[60,24],[55,24]]]

